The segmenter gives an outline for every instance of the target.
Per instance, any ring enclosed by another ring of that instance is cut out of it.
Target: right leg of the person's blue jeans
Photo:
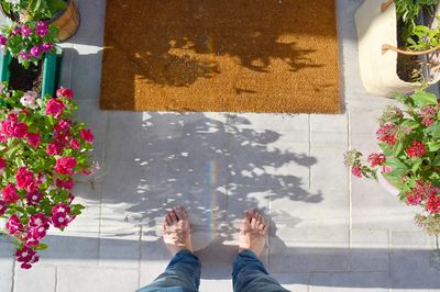
[[[285,292],[272,278],[263,262],[251,250],[239,252],[233,262],[232,285],[234,292]]]

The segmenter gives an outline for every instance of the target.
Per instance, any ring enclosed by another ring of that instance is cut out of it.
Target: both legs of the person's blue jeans
[[[164,273],[139,292],[197,292],[200,285],[200,261],[190,251],[176,254]],[[251,250],[239,252],[233,262],[232,285],[235,292],[288,291],[272,278],[263,262]]]

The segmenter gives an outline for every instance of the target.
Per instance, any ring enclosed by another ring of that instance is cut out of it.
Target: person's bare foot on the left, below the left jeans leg
[[[185,249],[194,251],[189,221],[180,206],[176,206],[165,216],[163,235],[164,243],[173,256]]]

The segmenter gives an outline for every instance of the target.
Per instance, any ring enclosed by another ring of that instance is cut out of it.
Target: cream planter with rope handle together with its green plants
[[[367,0],[358,9],[360,70],[370,93],[409,93],[440,80],[438,3]]]

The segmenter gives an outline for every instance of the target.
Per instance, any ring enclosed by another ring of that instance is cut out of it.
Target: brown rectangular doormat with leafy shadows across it
[[[333,0],[107,0],[101,109],[339,113]]]

